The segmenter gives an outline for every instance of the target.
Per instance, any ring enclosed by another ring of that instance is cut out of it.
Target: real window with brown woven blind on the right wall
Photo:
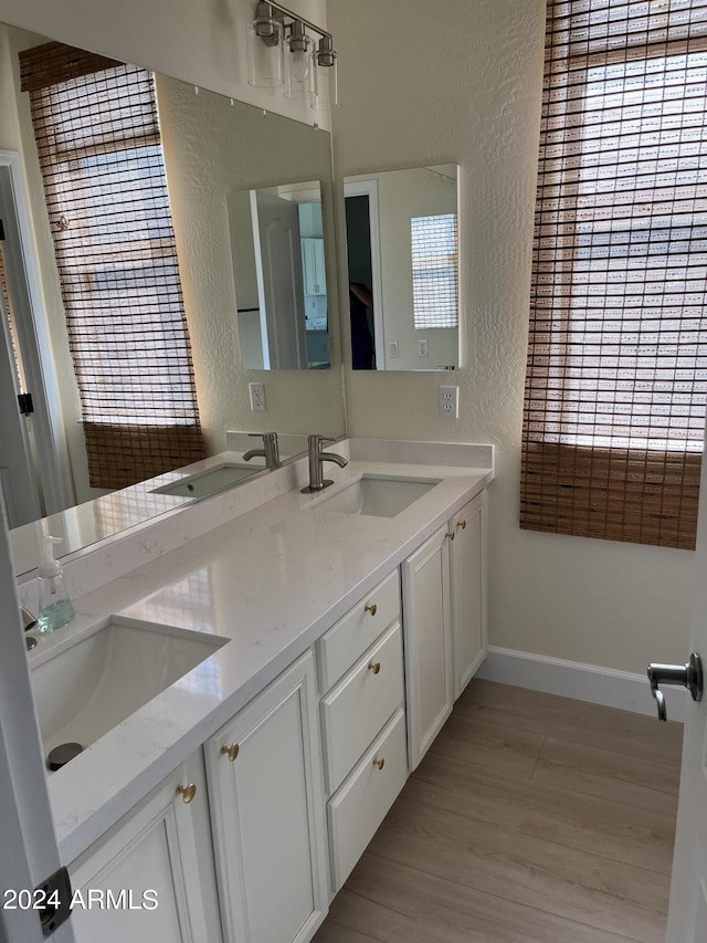
[[[694,548],[707,0],[550,0],[520,525]]]

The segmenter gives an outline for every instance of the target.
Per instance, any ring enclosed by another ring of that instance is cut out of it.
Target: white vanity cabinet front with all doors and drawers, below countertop
[[[485,541],[481,492],[74,861],[78,943],[307,943],[485,656]]]

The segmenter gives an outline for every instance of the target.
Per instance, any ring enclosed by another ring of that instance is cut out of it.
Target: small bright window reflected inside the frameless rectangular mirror
[[[410,220],[410,242],[415,328],[456,327],[456,213],[413,217]]]

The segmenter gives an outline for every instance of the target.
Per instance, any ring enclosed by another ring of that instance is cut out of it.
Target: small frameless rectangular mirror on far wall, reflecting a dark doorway
[[[355,370],[460,366],[457,168],[346,177]]]

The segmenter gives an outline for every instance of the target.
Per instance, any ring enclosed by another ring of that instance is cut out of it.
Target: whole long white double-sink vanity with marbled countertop
[[[492,450],[334,448],[321,494],[302,460],[75,562],[30,660],[45,746],[94,726],[50,794],[73,887],[133,904],[74,909],[77,940],[309,940],[481,664]]]

